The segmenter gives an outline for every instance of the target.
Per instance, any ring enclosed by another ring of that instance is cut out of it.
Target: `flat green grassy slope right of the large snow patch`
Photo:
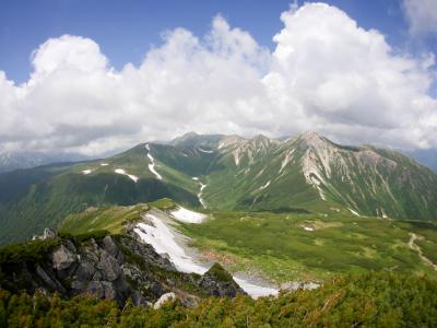
[[[275,281],[323,280],[369,269],[437,277],[408,246],[411,232],[423,235],[424,255],[435,259],[435,224],[351,216],[343,210],[328,216],[216,211],[212,218],[200,225],[184,225],[184,232],[194,246],[226,261],[232,270],[260,268]]]

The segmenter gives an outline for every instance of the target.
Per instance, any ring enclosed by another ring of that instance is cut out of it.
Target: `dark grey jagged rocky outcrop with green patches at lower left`
[[[128,298],[134,305],[151,305],[163,295],[192,306],[202,296],[244,293],[223,268],[213,266],[204,276],[178,272],[151,245],[131,236],[94,236],[84,241],[54,236],[52,241],[38,238],[28,247],[39,249],[48,242],[55,246],[35,257],[1,262],[0,288],[56,292],[66,298],[88,294],[115,300],[120,306]]]

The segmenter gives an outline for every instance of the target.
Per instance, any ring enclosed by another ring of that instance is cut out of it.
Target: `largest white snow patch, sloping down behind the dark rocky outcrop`
[[[163,221],[150,213],[145,214],[145,216],[153,225],[139,223],[133,230],[143,242],[151,244],[156,253],[167,254],[179,271],[196,272],[198,274],[203,274],[208,271],[208,268],[196,263],[185,253],[184,248],[176,242],[174,233]]]

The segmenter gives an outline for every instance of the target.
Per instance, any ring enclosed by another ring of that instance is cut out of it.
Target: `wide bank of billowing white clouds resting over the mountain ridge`
[[[139,67],[121,71],[90,38],[51,38],[32,54],[26,83],[0,71],[0,151],[98,154],[189,130],[317,130],[338,142],[437,147],[433,54],[400,54],[323,3],[292,7],[281,20],[273,51],[216,16],[201,38],[164,33]]]

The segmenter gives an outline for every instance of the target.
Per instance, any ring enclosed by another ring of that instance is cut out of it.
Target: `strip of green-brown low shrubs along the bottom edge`
[[[161,309],[120,308],[79,296],[0,292],[0,327],[433,327],[437,282],[425,277],[369,272],[332,279],[314,291],[279,297],[210,297],[194,308],[166,303]]]

